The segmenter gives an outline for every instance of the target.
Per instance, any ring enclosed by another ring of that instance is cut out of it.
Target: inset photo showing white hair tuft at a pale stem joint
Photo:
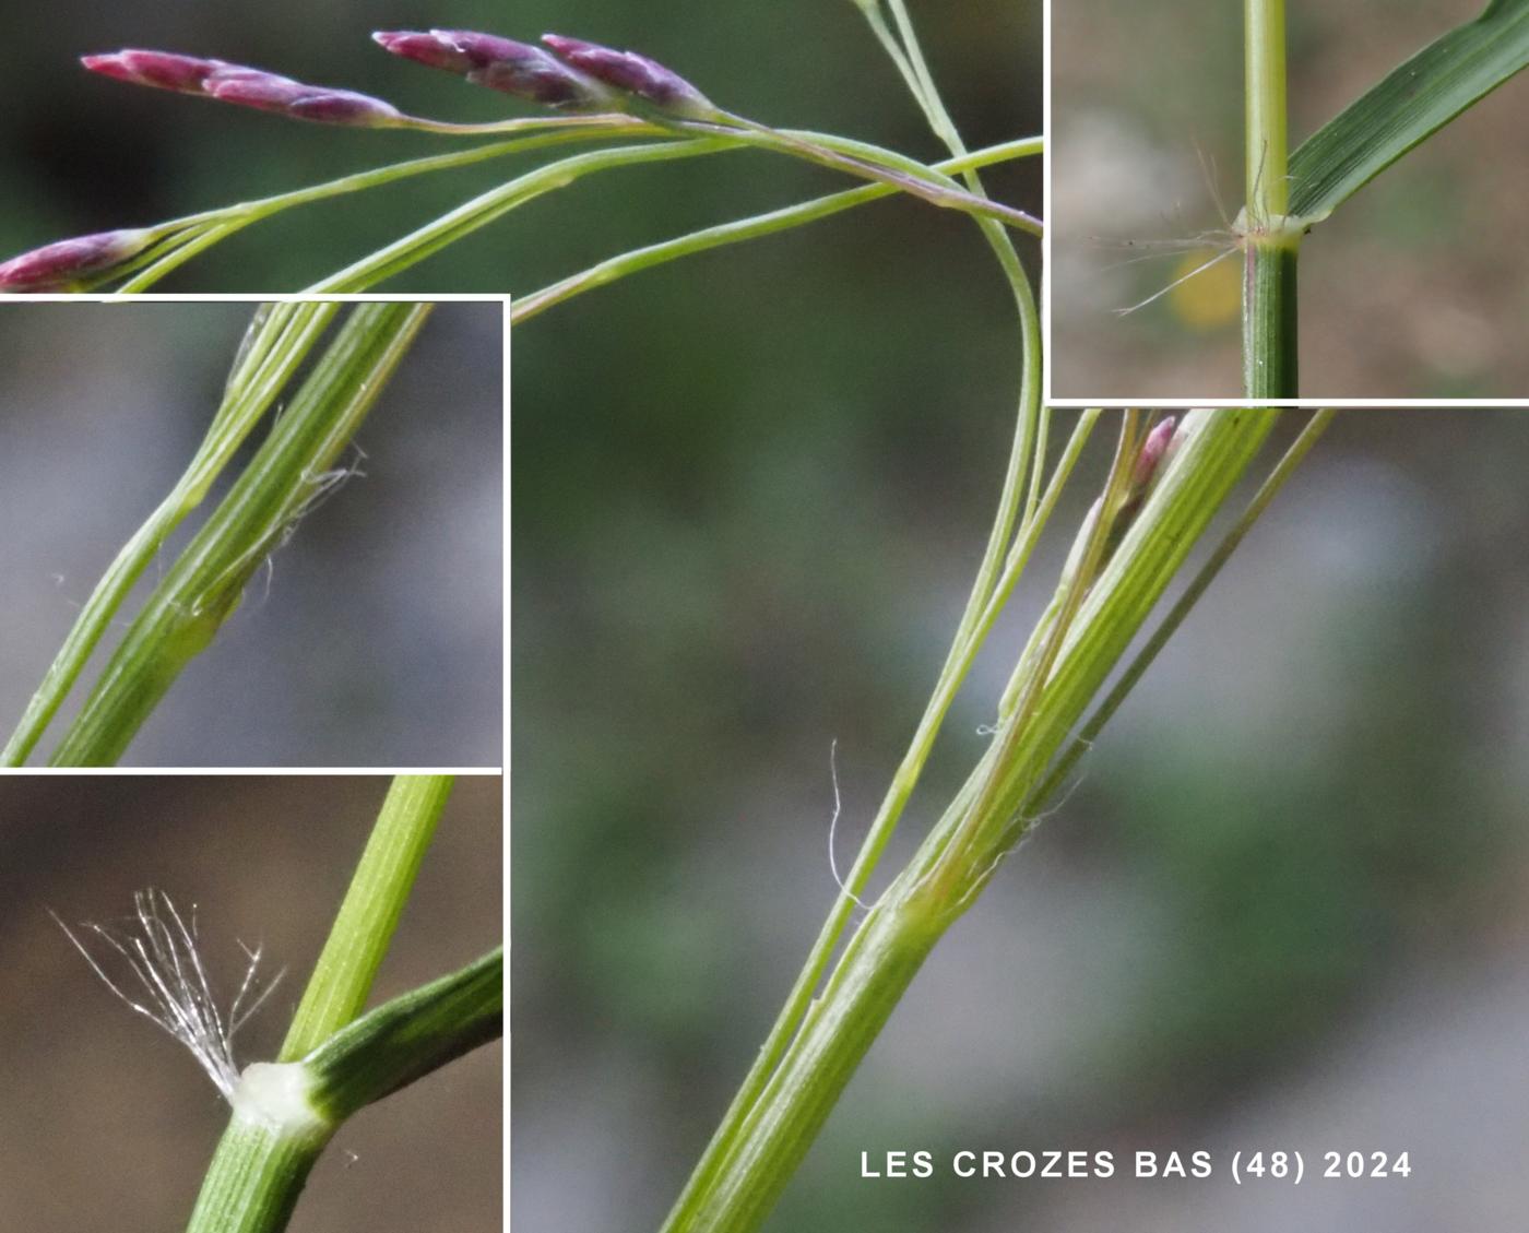
[[[0,1225],[498,1233],[492,776],[0,776]]]

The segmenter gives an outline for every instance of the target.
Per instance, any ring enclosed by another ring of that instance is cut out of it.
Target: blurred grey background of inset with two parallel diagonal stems
[[[101,572],[191,459],[252,314],[240,303],[0,307],[8,730]],[[500,763],[500,314],[497,303],[436,306],[356,438],[364,453],[344,459],[364,477],[255,574],[125,763]],[[167,546],[165,568],[211,502]],[[135,613],[130,600],[96,667]]]

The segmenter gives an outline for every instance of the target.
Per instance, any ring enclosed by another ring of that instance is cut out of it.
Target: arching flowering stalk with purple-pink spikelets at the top
[[[119,280],[125,280],[121,285],[124,292],[144,291],[211,245],[280,210],[388,184],[407,174],[494,158],[512,148],[524,150],[535,144],[579,141],[598,135],[621,139],[696,136],[768,148],[911,193],[934,205],[986,216],[1037,236],[1041,231],[1038,220],[1024,211],[991,202],[980,193],[963,191],[942,171],[914,159],[865,142],[824,133],[777,130],[731,115],[673,70],[636,52],[561,35],[546,37],[550,52],[472,31],[382,31],[375,38],[394,55],[459,73],[474,84],[526,98],[566,115],[451,124],[404,115],[393,104],[370,95],[310,86],[223,60],[142,49],[89,55],[83,58],[87,69],[119,81],[213,98],[294,119],[457,135],[547,132],[540,142],[528,139],[518,147],[506,142],[463,156],[417,159],[347,176],[313,190],[193,214],[154,228],[101,233],[46,245],[0,265],[0,294],[81,292]],[[956,153],[963,155],[965,150]],[[465,234],[457,229],[457,223],[472,213],[472,208],[463,208],[437,220],[436,234],[451,231],[453,239]],[[419,239],[422,237],[405,237],[401,246],[410,248]],[[425,251],[434,248],[439,245],[431,240]],[[352,271],[344,271],[323,286],[350,277]]]

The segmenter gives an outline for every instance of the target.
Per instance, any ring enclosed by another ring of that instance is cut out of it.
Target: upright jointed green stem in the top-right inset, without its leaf
[[[1295,398],[1300,389],[1295,272],[1303,233],[1289,214],[1284,0],[1243,0],[1243,395],[1278,401]]]

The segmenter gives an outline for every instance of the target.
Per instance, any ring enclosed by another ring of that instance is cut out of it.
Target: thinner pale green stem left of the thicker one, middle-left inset
[[[0,754],[6,766],[20,766],[26,762],[80,679],[80,673],[133,584],[154,560],[170,532],[206,496],[213,480],[292,379],[298,364],[312,350],[335,312],[335,304],[274,304],[257,314],[260,324],[252,327],[254,335],[246,337],[249,350],[229,373],[223,402],[208,427],[206,438],[176,486],[122,546],[90,592]]]

